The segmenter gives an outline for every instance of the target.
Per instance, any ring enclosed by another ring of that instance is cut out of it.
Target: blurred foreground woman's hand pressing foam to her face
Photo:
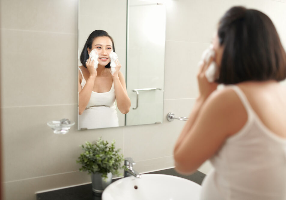
[[[206,63],[205,61],[200,62],[200,69],[197,74],[197,81],[199,86],[199,98],[202,98],[203,101],[206,100],[209,95],[216,90],[218,84],[216,82],[208,82],[206,79],[205,73],[209,65],[212,63],[213,58],[209,59],[209,62]]]

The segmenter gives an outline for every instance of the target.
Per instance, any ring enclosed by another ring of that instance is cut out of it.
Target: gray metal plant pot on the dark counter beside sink
[[[107,180],[104,181],[104,178],[101,177],[101,173],[96,173],[91,175],[92,182],[92,191],[95,193],[102,193],[103,190],[111,184],[112,181],[112,173],[107,173]]]

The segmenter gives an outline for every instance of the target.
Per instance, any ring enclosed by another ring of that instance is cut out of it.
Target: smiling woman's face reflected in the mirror
[[[96,37],[92,42],[92,49],[87,48],[89,54],[93,49],[98,52],[98,64],[105,66],[110,62],[109,54],[112,52],[113,46],[109,37]]]

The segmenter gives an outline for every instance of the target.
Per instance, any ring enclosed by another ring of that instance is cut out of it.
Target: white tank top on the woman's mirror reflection
[[[79,68],[80,70],[80,68]],[[83,89],[86,84],[83,73],[81,88]],[[114,83],[108,92],[94,92],[92,91],[89,103],[81,115],[79,115],[79,129],[94,129],[94,128],[107,128],[118,127],[118,117],[115,105],[115,91]]]

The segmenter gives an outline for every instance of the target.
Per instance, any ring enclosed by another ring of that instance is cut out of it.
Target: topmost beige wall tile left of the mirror
[[[77,0],[1,0],[1,28],[77,34]]]

